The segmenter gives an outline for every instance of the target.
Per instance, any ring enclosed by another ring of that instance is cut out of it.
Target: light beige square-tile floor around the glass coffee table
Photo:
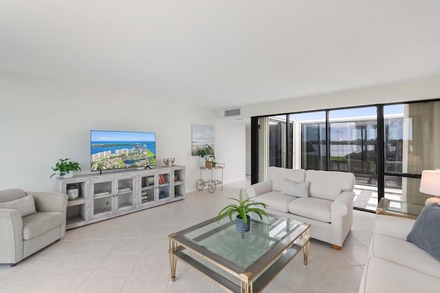
[[[191,192],[186,200],[69,230],[13,268],[0,264],[0,292],[223,292],[179,261],[170,281],[167,236],[214,217],[246,185]],[[341,250],[312,240],[307,266],[297,256],[265,292],[358,292],[373,221],[373,213],[354,211]]]

